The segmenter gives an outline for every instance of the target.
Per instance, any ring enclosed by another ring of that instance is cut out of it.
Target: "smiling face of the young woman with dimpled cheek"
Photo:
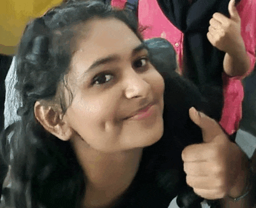
[[[69,126],[90,148],[104,152],[157,142],[165,86],[147,50],[114,18],[91,20],[84,31],[68,73],[74,96],[65,115]]]

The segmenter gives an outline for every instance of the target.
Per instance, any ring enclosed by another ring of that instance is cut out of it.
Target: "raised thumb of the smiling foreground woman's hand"
[[[214,119],[197,111],[194,107],[190,108],[189,116],[201,128],[204,143],[211,143],[216,136],[223,134],[222,128]]]

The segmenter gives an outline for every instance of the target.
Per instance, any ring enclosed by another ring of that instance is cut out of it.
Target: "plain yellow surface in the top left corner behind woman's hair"
[[[28,21],[43,15],[61,0],[1,0],[0,53],[14,54]]]

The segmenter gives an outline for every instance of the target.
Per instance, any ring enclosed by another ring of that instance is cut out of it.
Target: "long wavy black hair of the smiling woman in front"
[[[68,1],[26,26],[16,56],[16,89],[22,100],[17,113],[21,121],[2,133],[0,147],[1,158],[12,167],[10,206],[81,206],[86,181],[71,143],[44,130],[34,117],[34,104],[37,100],[53,100],[59,83],[68,87],[64,75],[69,71],[71,40],[79,33],[80,23],[93,18],[116,18],[142,41],[136,17],[131,17],[131,13],[99,1]],[[60,104],[65,112],[67,104],[61,99]],[[180,207],[191,207],[198,200],[190,196],[191,191],[180,197],[184,198]],[[196,204],[193,207],[201,207],[200,202]]]

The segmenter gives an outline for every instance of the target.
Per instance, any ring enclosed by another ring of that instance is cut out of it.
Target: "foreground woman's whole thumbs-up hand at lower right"
[[[228,139],[214,119],[193,107],[189,115],[201,128],[203,143],[192,144],[182,151],[187,184],[206,199],[240,196],[246,184],[244,153]]]

